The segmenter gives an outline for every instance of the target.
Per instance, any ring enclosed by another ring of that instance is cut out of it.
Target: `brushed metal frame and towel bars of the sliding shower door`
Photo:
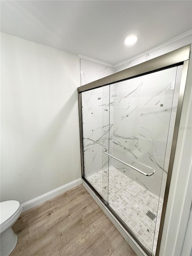
[[[189,65],[189,57],[190,57],[190,45],[187,45],[187,46],[184,46],[184,47],[179,48],[177,50],[174,50],[170,53],[166,53],[162,56],[159,56],[159,57],[156,57],[154,59],[148,60],[146,62],[143,62],[141,64],[133,66],[131,68],[127,68],[125,70],[119,71],[119,72],[117,72],[115,74],[112,74],[110,76],[101,78],[97,81],[94,81],[94,82],[91,82],[91,83],[88,83],[86,85],[78,87],[82,179],[89,186],[89,188],[92,191],[94,191],[94,193],[98,196],[98,198],[101,200],[101,202],[103,202],[105,204],[107,209],[110,210],[110,212],[116,217],[116,219],[119,221],[119,223],[125,228],[125,230],[127,230],[127,232],[135,239],[135,241],[138,243],[138,245],[140,245],[140,247],[143,249],[143,251],[145,251],[146,254],[148,254],[148,255],[152,255],[152,253],[149,253],[149,251],[134,236],[134,233],[125,224],[125,222],[116,214],[116,212],[114,212],[114,210],[109,206],[109,204],[104,200],[104,198],[98,193],[98,191],[85,179],[85,175],[84,175],[84,155],[83,155],[84,154],[84,149],[83,149],[81,93],[85,92],[85,91],[88,91],[88,90],[91,90],[91,89],[103,87],[103,86],[106,86],[106,85],[109,85],[109,84],[113,84],[113,83],[121,82],[121,81],[124,81],[124,80],[128,80],[128,79],[131,79],[131,78],[134,78],[134,77],[140,77],[141,75],[150,74],[150,73],[153,73],[153,72],[156,72],[156,71],[160,71],[160,70],[164,70],[164,69],[167,69],[167,68],[183,65],[181,86],[180,86],[180,91],[179,91],[179,101],[178,101],[178,107],[177,107],[177,112],[176,112],[176,121],[175,121],[174,133],[173,133],[173,140],[172,140],[172,147],[171,147],[168,174],[167,174],[167,183],[166,183],[164,203],[163,203],[163,209],[162,209],[162,214],[161,214],[161,222],[160,222],[160,228],[159,228],[159,234],[158,234],[158,242],[157,242],[157,248],[156,248],[156,254],[155,254],[155,256],[158,256],[159,255],[159,249],[160,249],[160,243],[161,243],[161,236],[162,236],[162,231],[163,231],[163,225],[164,225],[164,218],[165,218],[167,200],[168,200],[168,195],[169,195],[169,187],[170,187],[171,174],[172,174],[172,169],[173,169],[173,162],[174,162],[174,156],[175,156],[175,150],[176,150],[177,137],[178,137],[177,127],[179,127],[179,122],[180,122],[180,119],[181,119],[182,104],[183,104],[185,84],[186,84],[187,71],[188,71],[188,65]],[[94,141],[94,140],[92,140],[92,141]],[[96,141],[94,141],[94,142],[96,142]],[[98,143],[98,142],[96,142],[96,143]],[[98,143],[98,144],[100,144],[101,146],[104,146],[101,143]],[[108,147],[106,147],[106,148],[108,148]],[[113,157],[112,155],[110,155],[106,152],[104,152],[104,153],[107,154],[109,157]],[[118,158],[115,158],[115,159],[119,161]],[[123,163],[128,165],[125,162],[123,162]],[[131,166],[131,168],[133,168],[133,167]],[[151,175],[153,175],[153,174],[151,174]],[[144,174],[144,175],[146,175],[146,174]]]

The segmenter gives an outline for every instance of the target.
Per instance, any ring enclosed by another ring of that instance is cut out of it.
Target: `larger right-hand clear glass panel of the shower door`
[[[138,242],[153,255],[181,73],[182,66],[173,67],[111,85],[110,151],[114,158],[109,166],[108,202]]]

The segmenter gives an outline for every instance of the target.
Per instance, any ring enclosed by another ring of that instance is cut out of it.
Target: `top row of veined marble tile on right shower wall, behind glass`
[[[172,104],[177,67],[125,80],[114,85],[114,106]]]

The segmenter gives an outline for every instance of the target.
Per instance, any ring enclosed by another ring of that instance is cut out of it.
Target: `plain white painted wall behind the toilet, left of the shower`
[[[78,86],[78,56],[1,33],[2,201],[81,177]]]

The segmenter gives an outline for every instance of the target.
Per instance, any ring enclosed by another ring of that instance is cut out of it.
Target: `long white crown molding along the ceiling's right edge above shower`
[[[183,33],[183,34],[181,34],[179,36],[176,36],[176,37],[174,37],[174,38],[164,42],[163,44],[159,44],[159,45],[157,45],[157,46],[155,46],[155,47],[153,47],[153,48],[151,48],[151,49],[149,49],[149,50],[147,50],[147,51],[145,51],[143,53],[140,53],[140,54],[138,54],[138,55],[136,55],[134,57],[131,57],[131,58],[129,58],[129,59],[123,61],[123,62],[120,62],[120,63],[114,65],[114,68],[117,68],[117,67],[119,67],[119,66],[121,66],[121,65],[123,65],[123,64],[125,64],[125,63],[127,63],[129,61],[132,61],[132,60],[137,59],[137,58],[139,58],[139,57],[141,57],[143,55],[146,55],[147,53],[150,53],[152,51],[158,50],[161,47],[164,47],[164,46],[166,46],[168,44],[171,44],[171,43],[173,43],[173,42],[175,42],[175,41],[177,41],[179,39],[182,39],[182,38],[184,38],[184,37],[186,37],[188,35],[191,35],[191,34],[192,34],[192,29],[188,30],[187,32],[185,32],[185,33]]]

